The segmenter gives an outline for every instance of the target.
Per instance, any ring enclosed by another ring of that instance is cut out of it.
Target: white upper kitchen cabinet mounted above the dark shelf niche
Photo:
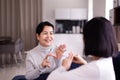
[[[83,20],[87,19],[87,9],[85,8],[64,8],[55,10],[56,20]]]

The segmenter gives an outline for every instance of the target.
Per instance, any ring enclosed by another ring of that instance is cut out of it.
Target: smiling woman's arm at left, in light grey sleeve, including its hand
[[[46,68],[41,65],[42,60],[38,64],[38,67],[35,66],[35,62],[33,57],[30,55],[30,53],[27,54],[26,57],[26,79],[33,80],[38,78],[42,73],[45,72]]]

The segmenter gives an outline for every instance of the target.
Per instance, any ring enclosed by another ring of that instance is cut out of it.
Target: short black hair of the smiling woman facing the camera
[[[45,21],[45,22],[41,22],[40,24],[38,24],[38,26],[37,26],[37,28],[36,28],[36,34],[40,34],[40,33],[43,31],[43,29],[44,29],[45,26],[50,26],[50,27],[52,27],[53,30],[54,30],[53,24],[51,24],[51,23],[48,22],[48,21]]]

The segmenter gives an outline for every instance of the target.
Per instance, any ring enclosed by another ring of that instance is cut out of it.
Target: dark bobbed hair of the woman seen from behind
[[[118,46],[111,22],[104,17],[95,17],[83,27],[85,55],[97,57],[116,56]]]

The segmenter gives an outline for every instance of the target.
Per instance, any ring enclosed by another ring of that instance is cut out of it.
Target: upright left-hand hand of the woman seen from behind
[[[70,53],[69,56],[62,61],[62,66],[65,67],[66,70],[68,70],[72,64],[72,60],[73,60],[73,54]]]

